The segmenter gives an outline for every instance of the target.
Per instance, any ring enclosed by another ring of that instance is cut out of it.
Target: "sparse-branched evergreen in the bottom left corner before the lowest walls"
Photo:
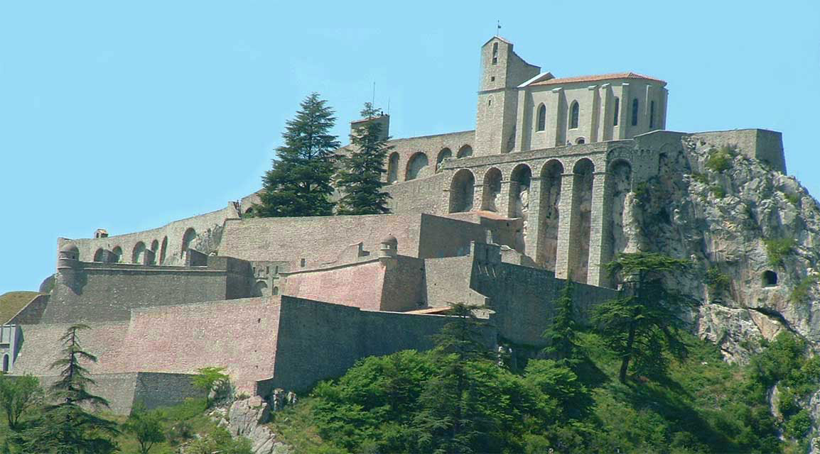
[[[62,368],[60,380],[52,384],[55,404],[45,407],[43,414],[30,429],[14,438],[23,452],[29,454],[108,454],[116,452],[111,439],[119,433],[116,423],[95,416],[82,406],[107,407],[106,399],[89,393],[94,384],[81,361],[97,362],[97,357],[83,350],[77,333],[88,329],[72,325],[61,340],[64,357],[52,363],[52,369]]]

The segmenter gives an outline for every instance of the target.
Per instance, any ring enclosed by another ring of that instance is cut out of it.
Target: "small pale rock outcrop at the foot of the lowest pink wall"
[[[271,407],[259,396],[231,404],[224,424],[231,435],[251,440],[254,454],[287,454],[288,445],[276,441],[276,434],[264,424],[271,418]]]

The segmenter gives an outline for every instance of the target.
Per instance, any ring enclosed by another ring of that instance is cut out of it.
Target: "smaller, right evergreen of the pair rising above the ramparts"
[[[376,109],[366,102],[362,118],[371,120],[378,115]],[[338,214],[385,214],[389,213],[389,194],[381,191],[385,182],[385,159],[393,148],[387,145],[389,137],[381,136],[381,124],[367,121],[350,136],[353,151],[341,159],[342,170],[336,178],[336,187],[344,194],[339,200]]]

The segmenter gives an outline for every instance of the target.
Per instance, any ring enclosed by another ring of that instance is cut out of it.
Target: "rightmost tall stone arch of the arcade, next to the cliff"
[[[604,262],[626,250],[629,240],[624,232],[626,207],[632,191],[632,164],[628,160],[617,159],[609,164],[607,174],[607,197],[604,204],[610,207],[608,219],[608,254]]]

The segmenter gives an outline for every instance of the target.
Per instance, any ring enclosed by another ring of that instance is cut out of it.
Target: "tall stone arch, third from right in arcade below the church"
[[[541,168],[540,175],[541,191],[538,202],[540,240],[535,248],[535,263],[554,272],[558,258],[559,204],[563,164],[559,160],[549,160]]]

